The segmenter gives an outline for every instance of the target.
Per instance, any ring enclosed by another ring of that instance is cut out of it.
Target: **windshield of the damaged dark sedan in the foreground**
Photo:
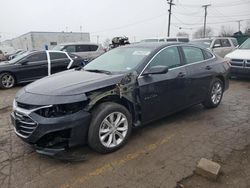
[[[84,70],[128,72],[134,70],[151,51],[149,48],[116,48],[91,61]]]

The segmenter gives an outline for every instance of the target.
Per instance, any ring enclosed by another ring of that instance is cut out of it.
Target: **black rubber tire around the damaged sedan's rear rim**
[[[216,102],[214,102],[213,99],[212,99],[212,95],[213,95],[213,88],[215,87],[216,84],[220,84],[222,90],[221,90],[220,99],[217,100]],[[207,93],[206,99],[202,103],[203,106],[206,107],[206,108],[216,108],[221,103],[223,93],[224,93],[224,84],[223,84],[223,82],[219,78],[214,78],[212,80],[211,84],[210,84],[210,88],[209,88],[209,91]]]

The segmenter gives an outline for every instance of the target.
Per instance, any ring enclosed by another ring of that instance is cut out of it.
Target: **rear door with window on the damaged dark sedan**
[[[182,52],[190,82],[187,92],[188,101],[190,105],[196,104],[204,100],[212,80],[213,67],[207,58],[208,55],[204,53],[209,53],[210,59],[213,58],[213,55],[193,46],[182,46]]]

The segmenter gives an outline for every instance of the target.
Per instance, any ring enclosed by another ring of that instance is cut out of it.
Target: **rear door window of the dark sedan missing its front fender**
[[[195,63],[195,62],[199,62],[199,61],[204,60],[204,56],[203,56],[202,50],[200,48],[191,47],[191,46],[184,46],[184,47],[182,47],[182,49],[183,49],[187,64]]]

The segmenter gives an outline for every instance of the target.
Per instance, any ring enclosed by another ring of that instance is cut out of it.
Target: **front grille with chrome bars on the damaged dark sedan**
[[[37,123],[34,122],[29,116],[15,112],[15,128],[17,133],[23,137],[29,137],[31,133],[37,127]]]

